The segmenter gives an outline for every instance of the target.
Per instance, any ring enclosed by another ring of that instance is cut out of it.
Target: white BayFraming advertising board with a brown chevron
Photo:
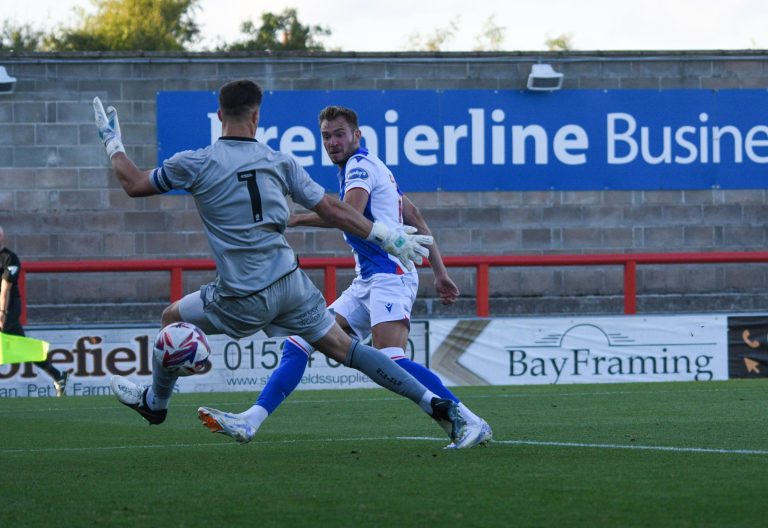
[[[728,379],[727,316],[430,321],[446,384],[532,385]]]

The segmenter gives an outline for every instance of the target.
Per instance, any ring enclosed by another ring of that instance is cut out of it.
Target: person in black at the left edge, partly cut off
[[[0,227],[0,332],[23,336],[19,273],[21,273],[21,261],[16,253],[5,246],[5,231]],[[48,359],[35,361],[33,364],[53,378],[56,396],[59,398],[64,396],[69,371],[57,369]]]

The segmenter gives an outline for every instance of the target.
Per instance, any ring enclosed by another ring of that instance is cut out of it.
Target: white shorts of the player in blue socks
[[[355,335],[364,341],[379,323],[411,319],[419,289],[419,275],[377,273],[368,279],[355,277],[330,310],[349,322]]]

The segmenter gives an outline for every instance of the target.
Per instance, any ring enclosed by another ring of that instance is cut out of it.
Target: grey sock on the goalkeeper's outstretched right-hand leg
[[[405,396],[417,405],[427,392],[419,381],[392,361],[386,354],[353,339],[344,362],[347,367],[359,370],[385,389]]]

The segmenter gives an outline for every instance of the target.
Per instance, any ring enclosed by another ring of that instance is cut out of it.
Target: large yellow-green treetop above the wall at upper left
[[[45,47],[68,51],[182,51],[200,29],[192,18],[199,0],[91,0],[80,23],[62,28]]]

